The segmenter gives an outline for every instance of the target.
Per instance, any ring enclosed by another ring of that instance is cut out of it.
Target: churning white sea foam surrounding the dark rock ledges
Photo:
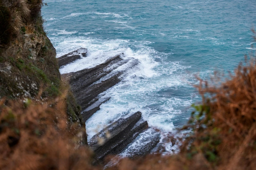
[[[187,77],[191,78],[193,75],[174,74],[174,72],[182,72],[190,67],[183,66],[182,62],[165,62],[165,65],[156,62],[154,60],[156,56],[164,60],[169,54],[159,53],[150,48],[148,45],[152,42],[104,40],[90,37],[70,37],[68,39],[53,37],[51,40],[58,42],[55,47],[57,51],[61,51],[58,52],[58,57],[81,47],[87,48],[91,53],[90,56],[61,68],[61,74],[92,68],[122,52],[124,52],[123,59],[132,57],[140,62],[136,68],[127,70],[122,82],[103,92],[106,97],[110,96],[111,99],[102,104],[100,110],[86,121],[88,139],[112,122],[137,111],[142,112],[142,117],[148,121],[149,126],[160,129],[162,132],[175,132],[173,121],[176,119],[176,115],[182,113],[175,107],[187,107],[193,103],[189,99],[171,96],[158,97],[158,92],[164,89],[189,86]],[[130,45],[135,46],[137,50],[129,48]],[[170,75],[170,77],[165,78],[163,75]],[[158,99],[156,100],[156,98]],[[159,105],[159,107],[154,105]]]

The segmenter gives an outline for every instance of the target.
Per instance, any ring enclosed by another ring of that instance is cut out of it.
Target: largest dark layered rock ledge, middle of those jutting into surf
[[[114,56],[105,63],[93,68],[62,75],[62,78],[69,82],[82,110],[94,104],[98,100],[98,94],[120,82],[122,75],[139,64],[137,59],[129,58],[123,60],[120,55]],[[83,117],[88,119],[90,116]]]

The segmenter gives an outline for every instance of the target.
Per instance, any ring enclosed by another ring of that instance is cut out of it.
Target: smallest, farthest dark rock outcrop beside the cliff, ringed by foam
[[[87,49],[80,48],[58,58],[59,67],[87,56]]]

